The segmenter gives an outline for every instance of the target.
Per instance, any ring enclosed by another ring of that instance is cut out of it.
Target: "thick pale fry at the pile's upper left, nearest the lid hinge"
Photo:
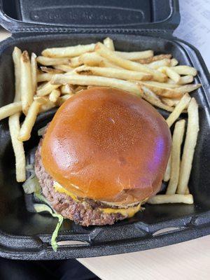
[[[64,48],[46,48],[41,52],[41,55],[45,57],[78,57],[85,52],[93,52],[94,43],[90,45],[74,45]]]

